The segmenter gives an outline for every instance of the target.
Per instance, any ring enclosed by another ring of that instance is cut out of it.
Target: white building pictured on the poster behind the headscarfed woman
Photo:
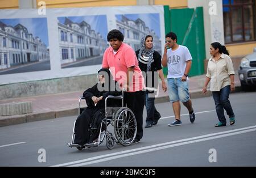
[[[121,21],[116,20],[117,29],[123,33],[125,43],[129,44],[135,51],[141,48],[141,38],[145,35],[151,35],[154,40],[154,48],[161,54],[161,40],[155,34],[154,30],[146,27],[143,20],[131,20],[122,15]]]

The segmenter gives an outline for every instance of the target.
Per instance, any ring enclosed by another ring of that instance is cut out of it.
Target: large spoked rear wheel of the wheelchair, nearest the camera
[[[137,134],[137,122],[131,109],[123,107],[115,113],[114,133],[121,145],[129,146],[133,143]]]

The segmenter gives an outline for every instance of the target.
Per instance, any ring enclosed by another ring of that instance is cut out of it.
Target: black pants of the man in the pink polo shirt
[[[134,116],[137,121],[136,138],[141,139],[143,136],[144,92],[125,92],[125,104],[134,113]]]

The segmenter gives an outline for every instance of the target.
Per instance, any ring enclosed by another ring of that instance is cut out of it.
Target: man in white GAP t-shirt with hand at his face
[[[182,125],[180,120],[180,101],[188,109],[191,123],[195,121],[192,102],[188,92],[188,73],[191,69],[192,57],[186,46],[177,44],[177,36],[170,32],[166,35],[166,45],[162,65],[168,66],[168,91],[175,120],[169,126]]]

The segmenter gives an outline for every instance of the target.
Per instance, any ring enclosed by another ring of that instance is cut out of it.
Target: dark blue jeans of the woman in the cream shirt
[[[220,91],[213,91],[212,96],[216,106],[216,112],[218,120],[226,124],[226,118],[224,116],[224,109],[229,117],[234,117],[233,109],[229,101],[230,85],[221,88]]]

